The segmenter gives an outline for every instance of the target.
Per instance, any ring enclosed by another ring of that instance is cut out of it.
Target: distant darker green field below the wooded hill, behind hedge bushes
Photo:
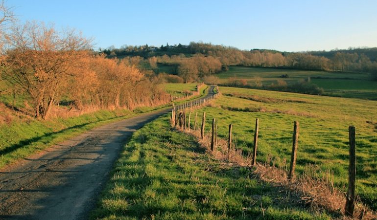
[[[305,71],[292,69],[258,68],[230,66],[229,71],[216,74],[221,83],[228,78],[246,79],[251,85],[255,77],[260,77],[264,86],[276,83],[281,75],[289,77],[283,80],[289,85],[310,77],[310,82],[324,88],[325,94],[341,97],[377,99],[377,81],[371,81],[368,73],[339,73],[325,71]]]

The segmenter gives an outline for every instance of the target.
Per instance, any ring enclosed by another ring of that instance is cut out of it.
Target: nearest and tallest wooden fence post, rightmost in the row
[[[350,166],[348,168],[348,191],[346,197],[346,216],[353,217],[353,209],[355,207],[355,127],[349,127],[349,140],[350,140]]]

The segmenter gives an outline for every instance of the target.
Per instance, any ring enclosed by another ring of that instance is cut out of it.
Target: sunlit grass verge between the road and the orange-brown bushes
[[[167,106],[143,107],[133,111],[98,110],[77,117],[46,121],[15,117],[10,123],[0,125],[0,168],[94,127]]]

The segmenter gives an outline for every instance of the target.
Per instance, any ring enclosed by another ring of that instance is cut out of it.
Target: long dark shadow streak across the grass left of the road
[[[122,116],[120,116],[120,117],[122,117]],[[4,154],[12,153],[19,148],[23,148],[24,146],[39,142],[39,141],[43,140],[44,138],[47,138],[47,137],[50,137],[50,136],[53,136],[53,135],[57,135],[57,134],[60,134],[60,133],[64,133],[64,132],[71,130],[71,129],[80,129],[80,128],[83,128],[83,127],[90,125],[90,124],[94,124],[94,123],[98,123],[98,122],[106,121],[106,120],[111,120],[111,119],[115,119],[115,118],[119,118],[119,117],[112,117],[112,118],[108,118],[108,119],[84,123],[84,124],[81,124],[81,125],[75,125],[75,126],[72,126],[72,127],[69,127],[69,128],[62,129],[58,132],[48,132],[48,133],[45,133],[42,136],[32,137],[32,138],[29,138],[29,139],[21,140],[17,144],[13,144],[9,147],[6,147],[5,149],[0,150],[0,156],[2,156]]]

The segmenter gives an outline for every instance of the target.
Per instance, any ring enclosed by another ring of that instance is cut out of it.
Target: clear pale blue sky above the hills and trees
[[[280,51],[377,46],[377,0],[7,0],[20,22],[93,37],[95,47],[204,43]]]

